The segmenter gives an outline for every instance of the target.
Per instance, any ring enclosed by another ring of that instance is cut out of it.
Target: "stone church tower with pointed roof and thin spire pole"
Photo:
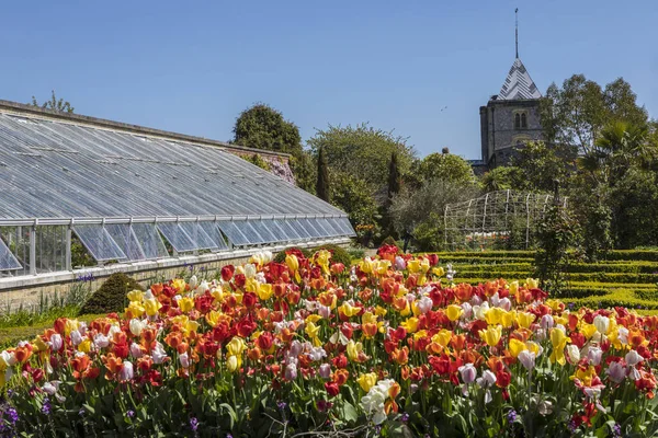
[[[518,12],[518,10],[517,10]],[[542,93],[519,58],[517,25],[517,58],[500,93],[492,95],[487,106],[480,106],[483,162],[494,169],[509,163],[517,148],[542,140],[540,99]]]

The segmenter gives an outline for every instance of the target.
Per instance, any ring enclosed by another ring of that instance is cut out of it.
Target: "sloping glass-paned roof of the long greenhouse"
[[[345,216],[226,147],[0,101],[0,221]]]

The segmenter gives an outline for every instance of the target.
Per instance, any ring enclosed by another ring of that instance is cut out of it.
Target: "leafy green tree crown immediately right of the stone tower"
[[[547,142],[574,145],[586,153],[612,120],[647,120],[646,110],[637,105],[635,93],[622,78],[603,90],[582,74],[565,80],[561,89],[551,84],[540,103],[540,113]]]

